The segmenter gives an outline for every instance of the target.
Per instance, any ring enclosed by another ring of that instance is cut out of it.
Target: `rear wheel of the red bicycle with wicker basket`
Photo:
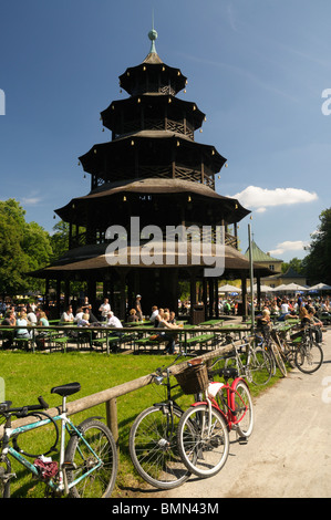
[[[236,410],[238,434],[241,437],[249,437],[254,428],[254,409],[250,392],[245,381],[238,381],[234,389],[231,408]]]

